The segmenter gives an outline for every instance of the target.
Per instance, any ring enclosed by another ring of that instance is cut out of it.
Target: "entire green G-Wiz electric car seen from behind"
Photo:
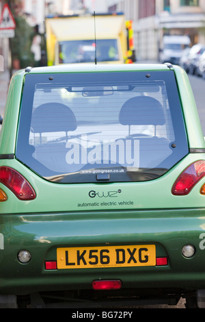
[[[180,67],[18,71],[0,201],[1,307],[205,307],[205,142]]]

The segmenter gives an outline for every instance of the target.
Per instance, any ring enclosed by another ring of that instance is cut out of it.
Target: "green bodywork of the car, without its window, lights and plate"
[[[189,153],[167,173],[149,182],[49,182],[15,158],[18,117],[28,73],[17,72],[10,82],[5,106],[0,167],[8,166],[23,175],[36,198],[20,200],[0,183],[8,197],[0,203],[0,295],[92,290],[94,280],[115,279],[122,281],[122,290],[129,290],[128,295],[136,296],[138,290],[143,294],[150,289],[159,294],[161,290],[174,290],[180,296],[205,289],[205,195],[200,193],[205,177],[188,195],[172,194],[180,173],[193,162],[205,160],[204,136],[187,74],[178,66],[157,64],[64,69],[36,68],[29,74],[174,71]],[[168,262],[159,267],[45,269],[46,261],[57,260],[57,248],[115,245],[156,245],[156,258],[167,257]],[[182,255],[184,245],[195,248],[191,258]],[[31,253],[27,263],[18,260],[22,249]]]

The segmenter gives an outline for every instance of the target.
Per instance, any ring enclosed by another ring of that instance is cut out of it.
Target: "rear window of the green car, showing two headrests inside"
[[[49,181],[147,181],[187,153],[173,71],[25,76],[16,158]]]

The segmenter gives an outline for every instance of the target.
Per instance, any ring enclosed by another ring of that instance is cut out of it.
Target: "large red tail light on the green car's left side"
[[[20,200],[32,200],[36,193],[23,175],[8,167],[0,167],[0,182],[9,188]]]

